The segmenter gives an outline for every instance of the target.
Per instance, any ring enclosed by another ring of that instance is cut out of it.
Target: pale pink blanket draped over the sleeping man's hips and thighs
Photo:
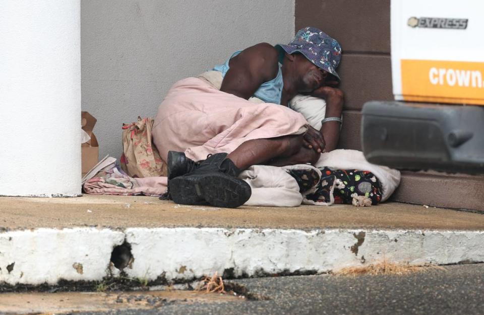
[[[169,150],[200,161],[207,154],[230,153],[247,140],[303,133],[307,124],[285,106],[254,104],[189,77],[175,83],[158,108],[153,142],[165,162]]]

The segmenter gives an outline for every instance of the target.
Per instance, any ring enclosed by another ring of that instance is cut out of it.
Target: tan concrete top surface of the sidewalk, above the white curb
[[[398,202],[373,207],[351,205],[237,209],[177,205],[156,197],[84,195],[77,198],[0,197],[0,228],[96,226],[484,229],[484,215]]]

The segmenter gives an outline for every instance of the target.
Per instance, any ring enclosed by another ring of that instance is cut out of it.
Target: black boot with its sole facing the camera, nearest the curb
[[[173,201],[236,208],[249,200],[251,187],[237,178],[241,171],[226,156],[227,153],[213,154],[190,173],[170,180]]]

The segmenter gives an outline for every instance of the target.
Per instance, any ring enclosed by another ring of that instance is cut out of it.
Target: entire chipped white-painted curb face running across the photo
[[[39,228],[0,233],[0,282],[101,280],[116,274],[109,266],[111,251],[125,240],[134,261],[124,271],[150,280],[192,279],[225,270],[234,276],[321,273],[383,259],[410,264],[484,262],[484,231]]]

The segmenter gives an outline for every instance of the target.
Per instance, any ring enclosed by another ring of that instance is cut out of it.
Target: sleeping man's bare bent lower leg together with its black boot
[[[240,144],[230,154],[213,154],[195,170],[169,181],[171,197],[181,204],[207,202],[219,207],[238,207],[251,196],[250,186],[238,179],[238,174],[256,164],[313,162],[319,153],[303,148],[302,143],[301,135],[253,139]]]

